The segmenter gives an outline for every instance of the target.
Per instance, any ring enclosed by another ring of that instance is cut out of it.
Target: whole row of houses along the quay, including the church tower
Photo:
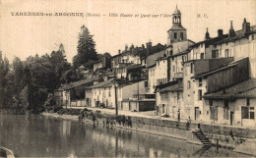
[[[63,105],[117,105],[120,110],[156,110],[174,119],[256,127],[255,34],[256,26],[244,19],[239,30],[230,22],[228,33],[219,29],[217,37],[210,37],[207,29],[204,40],[194,42],[176,8],[167,44],[126,45],[96,62],[95,76],[56,91]]]

